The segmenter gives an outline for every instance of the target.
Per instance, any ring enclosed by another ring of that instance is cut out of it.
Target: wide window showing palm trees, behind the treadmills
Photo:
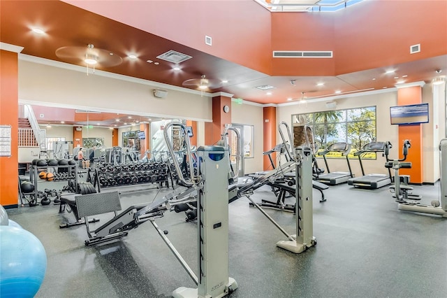
[[[353,156],[354,152],[362,149],[367,143],[376,141],[376,107],[295,114],[292,115],[292,125],[312,127],[318,151],[335,142],[346,142],[351,144],[349,157],[357,158]],[[342,157],[342,155],[327,155],[327,157]],[[362,155],[362,159],[375,158],[376,154],[373,152]]]

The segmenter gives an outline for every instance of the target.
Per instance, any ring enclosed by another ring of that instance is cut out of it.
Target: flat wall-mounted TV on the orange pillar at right
[[[392,125],[416,125],[428,122],[428,104],[390,106]]]

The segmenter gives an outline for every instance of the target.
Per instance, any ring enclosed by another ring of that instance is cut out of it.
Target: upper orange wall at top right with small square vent
[[[336,73],[446,55],[446,16],[447,1],[363,1],[340,10],[334,14]],[[410,54],[418,43],[421,52]]]

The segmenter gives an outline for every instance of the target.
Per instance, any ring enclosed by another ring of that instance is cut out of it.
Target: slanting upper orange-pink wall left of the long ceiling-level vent
[[[270,12],[255,1],[64,2],[263,73],[272,67]]]

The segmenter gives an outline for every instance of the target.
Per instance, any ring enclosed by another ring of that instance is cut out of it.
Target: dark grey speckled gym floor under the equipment
[[[122,208],[152,201],[168,190],[122,194]],[[430,204],[439,185],[415,186]],[[320,203],[314,190],[317,245],[295,255],[275,245],[286,240],[247,198],[229,205],[229,271],[239,288],[230,297],[446,297],[447,218],[397,210],[388,187],[361,190],[336,185]],[[268,187],[252,196],[274,199]],[[85,226],[59,206],[8,209],[11,220],[35,234],[47,253],[45,280],[36,297],[170,297],[196,288],[154,227],[145,222],[122,240],[86,247]],[[295,215],[266,209],[290,234]],[[101,221],[110,218],[99,216]],[[166,212],[156,220],[197,272],[196,222]]]

